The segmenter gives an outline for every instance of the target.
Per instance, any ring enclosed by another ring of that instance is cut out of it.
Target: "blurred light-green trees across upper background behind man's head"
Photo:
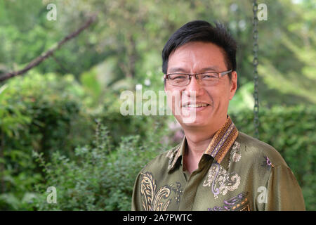
[[[258,23],[262,103],[315,103],[315,4],[312,0],[261,3],[268,7],[268,20]],[[56,21],[46,19],[47,4],[56,4]],[[142,84],[150,79],[157,88],[162,84],[161,51],[166,40],[181,25],[198,19],[227,25],[238,43],[239,84],[253,80],[252,4],[233,0],[1,1],[0,73],[22,68],[80,27],[91,13],[98,14],[98,22],[54,53],[62,67],[48,58],[37,67],[39,72],[71,72],[78,80],[88,73],[84,82],[92,82],[100,94],[100,84],[89,78],[99,64],[111,61],[114,70],[98,73],[99,81],[109,77],[114,84],[132,78]]]

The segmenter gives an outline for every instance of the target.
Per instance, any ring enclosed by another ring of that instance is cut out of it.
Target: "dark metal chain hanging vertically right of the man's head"
[[[259,139],[259,91],[258,91],[258,3],[256,0],[253,2],[254,11],[254,20],[253,20],[253,38],[254,38],[254,60],[252,61],[254,65],[254,129],[255,129],[255,136]]]

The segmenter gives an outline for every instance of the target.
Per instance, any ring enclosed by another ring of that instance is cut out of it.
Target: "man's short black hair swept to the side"
[[[211,42],[223,49],[225,63],[228,70],[236,70],[237,43],[232,35],[221,23],[215,26],[204,20],[195,20],[186,23],[171,35],[162,50],[162,72],[166,74],[170,54],[188,42],[202,41]],[[231,78],[231,73],[230,73]]]

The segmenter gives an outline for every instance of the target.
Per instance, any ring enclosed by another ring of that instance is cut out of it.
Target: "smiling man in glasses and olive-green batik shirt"
[[[174,100],[169,105],[185,137],[140,171],[132,210],[305,210],[282,156],[238,131],[227,115],[237,89],[236,49],[223,25],[201,20],[167,41],[164,89],[180,93],[182,113]],[[185,122],[187,112],[195,120]]]

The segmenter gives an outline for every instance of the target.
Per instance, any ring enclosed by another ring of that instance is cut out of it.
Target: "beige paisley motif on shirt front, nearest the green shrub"
[[[176,193],[176,203],[180,203],[180,195],[183,194],[181,184],[165,185],[157,191],[157,184],[151,172],[142,174],[140,181],[140,195],[142,196],[143,209],[145,211],[166,211],[171,203],[171,191]]]

